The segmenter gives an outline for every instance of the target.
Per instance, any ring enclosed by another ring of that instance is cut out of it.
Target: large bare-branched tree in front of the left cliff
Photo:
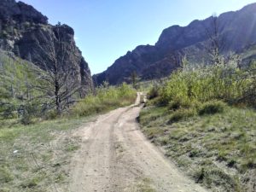
[[[46,102],[47,108],[55,108],[57,114],[61,115],[80,85],[73,79],[74,69],[65,62],[67,56],[72,55],[67,55],[68,43],[61,38],[61,26],[55,27],[47,44],[38,44],[40,54],[34,56],[43,70],[37,70],[40,83],[33,87],[43,93],[40,97]]]

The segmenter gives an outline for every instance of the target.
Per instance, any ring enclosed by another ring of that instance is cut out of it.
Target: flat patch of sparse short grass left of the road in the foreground
[[[0,191],[67,191],[68,165],[80,141],[72,133],[89,120],[1,121]]]

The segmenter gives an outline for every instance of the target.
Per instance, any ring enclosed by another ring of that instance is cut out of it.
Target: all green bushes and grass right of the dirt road
[[[142,130],[195,182],[213,191],[254,191],[255,79],[255,64],[183,66],[148,92]]]

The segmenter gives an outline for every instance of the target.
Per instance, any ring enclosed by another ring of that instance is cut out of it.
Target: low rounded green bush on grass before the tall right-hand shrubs
[[[215,113],[223,113],[224,108],[226,108],[226,104],[221,101],[212,101],[206,102],[202,104],[201,108],[199,109],[199,114],[215,114]]]

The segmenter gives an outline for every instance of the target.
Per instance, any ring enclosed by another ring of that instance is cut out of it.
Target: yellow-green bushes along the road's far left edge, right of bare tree
[[[136,90],[128,84],[119,87],[102,86],[96,89],[95,95],[89,95],[83,101],[72,108],[73,115],[88,116],[94,113],[102,113],[113,108],[119,108],[135,101]]]

